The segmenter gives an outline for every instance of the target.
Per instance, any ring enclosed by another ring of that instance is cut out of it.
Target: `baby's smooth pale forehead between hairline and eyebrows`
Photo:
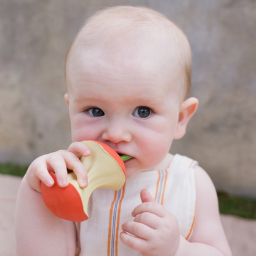
[[[106,90],[115,94],[119,91],[127,94],[129,91],[133,92],[130,94],[132,98],[145,98],[147,94],[167,94],[170,89],[184,95],[178,63],[166,63],[164,57],[164,54],[145,51],[140,56],[129,56],[127,60],[120,55],[108,56],[102,51],[81,50],[74,60],[75,66],[71,67],[68,84],[75,88],[76,95],[86,90],[86,94],[93,92],[95,96]],[[161,100],[161,96],[158,98]]]

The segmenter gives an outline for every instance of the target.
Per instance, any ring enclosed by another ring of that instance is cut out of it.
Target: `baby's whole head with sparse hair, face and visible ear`
[[[185,34],[145,7],[112,7],[91,17],[66,56],[73,141],[94,139],[134,156],[127,176],[153,169],[185,134],[197,100],[190,91]]]

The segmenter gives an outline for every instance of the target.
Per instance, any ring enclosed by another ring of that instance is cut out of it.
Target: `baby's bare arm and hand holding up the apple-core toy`
[[[17,256],[74,256],[76,229],[73,222],[55,217],[42,201],[41,181],[54,184],[49,170],[54,171],[58,185],[68,185],[67,168],[74,171],[81,187],[87,185],[87,173],[79,158],[89,156],[84,143],[75,142],[68,150],[60,150],[37,158],[28,168],[18,192],[15,233]]]

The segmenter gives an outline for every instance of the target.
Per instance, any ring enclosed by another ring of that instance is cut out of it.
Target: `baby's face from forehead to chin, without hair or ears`
[[[174,138],[183,98],[179,71],[176,65],[157,65],[158,58],[124,62],[87,52],[69,71],[73,142],[98,140],[134,156],[125,161],[127,178],[161,166]]]

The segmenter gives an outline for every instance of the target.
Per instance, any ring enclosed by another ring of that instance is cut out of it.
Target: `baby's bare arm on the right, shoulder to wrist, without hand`
[[[217,193],[209,175],[201,167],[195,168],[196,220],[190,242],[180,239],[175,256],[225,255],[231,256],[218,211]]]

